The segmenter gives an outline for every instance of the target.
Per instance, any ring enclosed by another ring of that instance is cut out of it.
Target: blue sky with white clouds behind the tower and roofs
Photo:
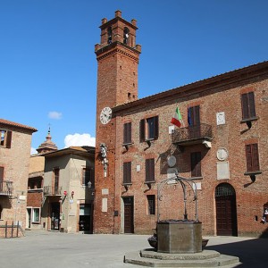
[[[138,97],[264,62],[266,0],[0,0],[0,118],[93,145],[101,20],[138,21]],[[172,115],[171,115],[172,116]],[[82,144],[81,144],[82,143]]]

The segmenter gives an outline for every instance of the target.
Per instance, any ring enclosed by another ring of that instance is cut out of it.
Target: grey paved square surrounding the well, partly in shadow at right
[[[124,264],[125,253],[149,247],[145,235],[66,234],[26,231],[20,239],[0,239],[4,268],[142,267]],[[266,267],[268,239],[209,237],[206,249],[239,256],[237,267]]]

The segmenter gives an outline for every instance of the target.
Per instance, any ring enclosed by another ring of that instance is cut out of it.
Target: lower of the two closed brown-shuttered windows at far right
[[[260,171],[258,145],[256,143],[246,145],[246,159],[247,172]]]

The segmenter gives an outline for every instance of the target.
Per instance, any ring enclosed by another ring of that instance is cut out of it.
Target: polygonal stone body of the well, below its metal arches
[[[201,222],[180,220],[157,222],[157,252],[192,254],[201,251]]]

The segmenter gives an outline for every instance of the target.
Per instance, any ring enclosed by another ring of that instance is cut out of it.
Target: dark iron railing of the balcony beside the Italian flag
[[[180,128],[172,133],[172,143],[182,143],[194,139],[212,139],[212,126],[202,123],[196,126]]]

